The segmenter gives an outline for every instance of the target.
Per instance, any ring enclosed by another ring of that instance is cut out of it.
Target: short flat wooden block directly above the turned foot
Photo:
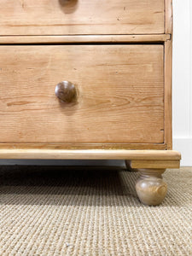
[[[132,160],[131,168],[179,168],[180,160]]]

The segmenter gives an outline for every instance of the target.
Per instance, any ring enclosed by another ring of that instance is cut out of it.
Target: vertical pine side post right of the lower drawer
[[[165,42],[165,143],[172,149],[172,40]]]

